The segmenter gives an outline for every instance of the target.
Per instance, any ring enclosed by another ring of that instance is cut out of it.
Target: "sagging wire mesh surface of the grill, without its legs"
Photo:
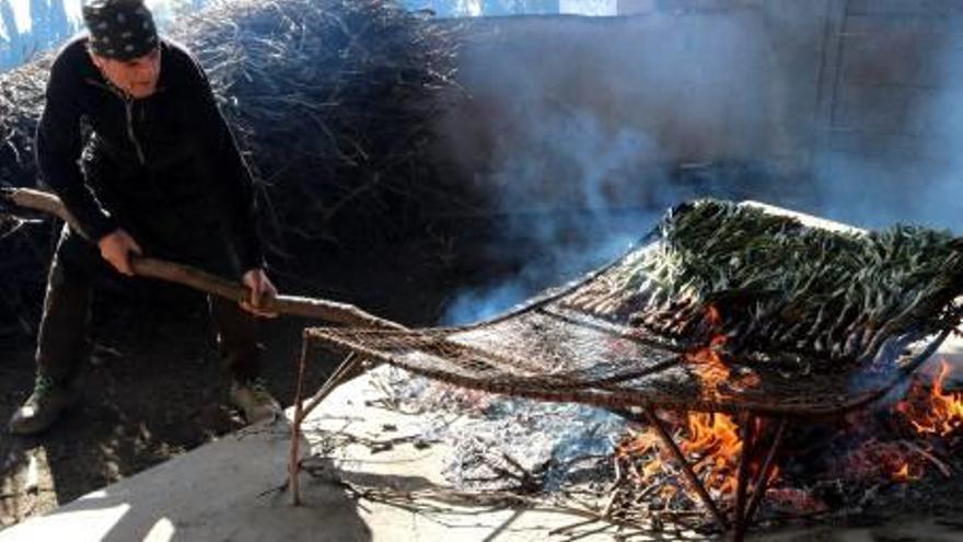
[[[752,411],[833,415],[879,397],[939,346],[944,336],[900,337],[866,366],[800,374],[778,359],[700,362],[692,345],[630,326],[619,314],[590,313],[571,302],[613,287],[638,249],[561,290],[549,290],[500,318],[455,328],[314,327],[308,336],[453,384],[542,401],[612,410]]]

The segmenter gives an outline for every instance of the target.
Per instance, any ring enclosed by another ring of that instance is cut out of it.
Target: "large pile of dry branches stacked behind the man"
[[[456,32],[391,0],[218,1],[171,30],[208,71],[255,171],[275,256],[292,241],[396,232],[448,197],[426,153],[433,119],[457,95],[445,92]],[[51,57],[0,73],[0,185],[36,182]],[[48,247],[40,237],[33,244]]]

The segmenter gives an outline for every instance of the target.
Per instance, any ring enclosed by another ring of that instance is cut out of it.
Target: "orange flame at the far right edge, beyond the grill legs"
[[[896,405],[919,435],[945,437],[963,428],[963,392],[945,393],[944,382],[950,374],[950,364],[940,362],[940,371],[929,394],[923,385],[914,383],[907,399]]]

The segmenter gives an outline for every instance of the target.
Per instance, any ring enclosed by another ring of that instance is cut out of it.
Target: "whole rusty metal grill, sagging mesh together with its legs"
[[[767,209],[794,215],[816,227],[844,228],[785,209]],[[643,420],[655,429],[707,511],[723,529],[733,529],[734,540],[742,540],[765,498],[775,458],[791,420],[838,416],[866,406],[907,379],[949,334],[910,332],[885,337],[872,359],[837,365],[828,359],[792,358],[799,354],[724,360],[698,355],[706,351],[704,344],[631,325],[629,318],[638,313],[625,313],[627,303],[592,301],[617,293],[624,287],[619,277],[626,275],[625,266],[637,265],[647,251],[658,246],[655,243],[631,251],[567,287],[546,290],[504,315],[474,325],[305,330],[299,382],[309,343],[347,349],[351,356],[303,410],[299,384],[290,475],[294,501],[299,426],[334,387],[357,374],[359,361],[352,357],[357,355],[465,388],[541,401],[578,402]],[[731,509],[720,508],[711,498],[658,416],[659,410],[739,415],[743,447]],[[777,423],[756,424],[761,417],[773,417]],[[764,433],[771,433],[771,438],[766,439]],[[762,468],[751,474],[751,464]]]

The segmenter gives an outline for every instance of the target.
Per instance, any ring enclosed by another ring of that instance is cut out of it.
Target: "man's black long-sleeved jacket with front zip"
[[[86,136],[86,137],[85,137]],[[40,176],[84,232],[128,230],[155,256],[221,273],[263,266],[251,172],[210,84],[182,46],[161,39],[158,90],[134,100],[67,44],[50,69],[37,127]]]

